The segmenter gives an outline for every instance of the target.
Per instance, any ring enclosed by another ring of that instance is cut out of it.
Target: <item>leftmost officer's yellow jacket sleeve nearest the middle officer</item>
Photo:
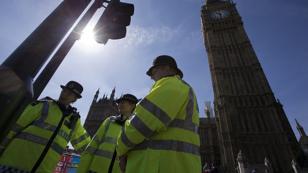
[[[81,125],[80,118],[78,118],[76,128],[70,140],[72,146],[78,153],[82,154],[82,152],[89,144],[90,140],[90,135],[85,131],[85,129]]]

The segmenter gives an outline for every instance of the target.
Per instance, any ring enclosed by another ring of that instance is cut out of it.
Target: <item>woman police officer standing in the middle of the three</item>
[[[124,94],[117,100],[118,116],[108,117],[97,130],[89,146],[82,153],[77,173],[121,173],[115,146],[125,120],[136,108],[137,98]]]

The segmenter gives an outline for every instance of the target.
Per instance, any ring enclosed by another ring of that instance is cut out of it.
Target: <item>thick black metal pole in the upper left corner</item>
[[[90,1],[63,0],[0,65],[0,143],[32,99],[33,78]]]

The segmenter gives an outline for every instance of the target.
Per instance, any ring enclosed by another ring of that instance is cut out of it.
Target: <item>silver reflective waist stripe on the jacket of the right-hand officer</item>
[[[198,145],[176,140],[145,140],[132,149],[132,151],[146,150],[147,148],[151,148],[153,150],[172,150],[197,156],[200,155],[200,147]]]

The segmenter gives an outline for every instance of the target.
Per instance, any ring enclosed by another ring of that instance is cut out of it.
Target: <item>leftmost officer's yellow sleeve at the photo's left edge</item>
[[[41,117],[42,105],[43,103],[39,103],[35,106],[28,105],[26,107],[26,109],[18,118],[17,122],[13,125],[6,138],[0,144],[0,155],[17,133],[26,128],[34,120]]]

